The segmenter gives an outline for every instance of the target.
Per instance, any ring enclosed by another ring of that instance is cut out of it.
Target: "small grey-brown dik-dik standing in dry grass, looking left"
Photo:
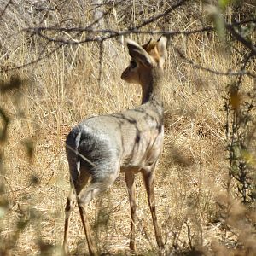
[[[71,192],[65,209],[64,251],[67,253],[68,224],[73,207],[78,202],[90,255],[96,255],[86,207],[92,199],[106,191],[125,173],[131,203],[130,248],[135,250],[135,174],[143,175],[148,204],[153,218],[157,244],[164,247],[157,224],[154,199],[154,169],[163,147],[162,83],[166,60],[166,38],[149,41],[143,46],[127,39],[131,62],[121,78],[142,86],[142,104],[122,113],[84,119],[67,136],[66,150],[69,164]],[[90,178],[90,183],[88,183]]]

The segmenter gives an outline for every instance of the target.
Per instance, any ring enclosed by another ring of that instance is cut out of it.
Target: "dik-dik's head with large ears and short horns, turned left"
[[[131,62],[121,75],[121,79],[128,83],[144,84],[152,77],[153,69],[163,69],[166,60],[166,38],[161,37],[156,42],[151,40],[140,46],[127,39],[126,44],[131,55]]]

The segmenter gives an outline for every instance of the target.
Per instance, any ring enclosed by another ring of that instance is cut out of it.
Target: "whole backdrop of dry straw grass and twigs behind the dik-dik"
[[[0,108],[9,120],[7,137],[0,142],[0,255],[61,255],[69,191],[64,150],[68,131],[85,117],[133,108],[141,98],[136,84],[120,79],[129,55],[118,37],[103,44],[99,40],[76,44],[108,33],[52,30],[40,34],[27,28],[91,24],[95,30],[126,31],[178,3],[141,0],[97,4],[100,2],[0,1],[0,79],[2,87],[15,87],[0,93]],[[143,26],[143,31],[192,31],[212,25],[206,2],[184,2]],[[218,1],[210,2],[218,6]],[[94,25],[98,10],[106,13],[104,20]],[[230,4],[224,10],[227,22],[234,16],[239,21],[252,14],[255,18],[253,1]],[[126,36],[142,44],[150,38],[137,33]],[[255,33],[251,36],[254,40]],[[229,175],[226,150],[224,98],[236,76],[196,68],[176,49],[201,67],[225,73],[239,70],[243,47],[221,42],[212,31],[169,37],[163,88],[165,148],[155,182],[164,253],[255,255],[255,206],[241,204],[236,180]],[[255,60],[247,70],[255,75]],[[243,76],[242,86],[245,95],[255,90],[255,80]],[[0,119],[2,133],[4,120]],[[136,182],[137,254],[155,255],[158,249],[139,175]],[[89,208],[101,252],[130,255],[130,206],[123,175]],[[77,209],[69,237],[73,255],[88,252]]]

